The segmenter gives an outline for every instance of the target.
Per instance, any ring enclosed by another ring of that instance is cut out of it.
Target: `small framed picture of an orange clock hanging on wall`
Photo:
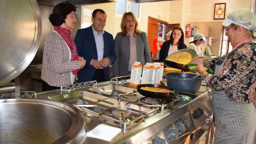
[[[225,10],[226,3],[215,3],[213,19],[225,19]]]

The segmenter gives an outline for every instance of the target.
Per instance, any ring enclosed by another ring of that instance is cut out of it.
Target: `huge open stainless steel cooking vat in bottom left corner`
[[[65,103],[0,99],[0,143],[82,143],[85,118]]]

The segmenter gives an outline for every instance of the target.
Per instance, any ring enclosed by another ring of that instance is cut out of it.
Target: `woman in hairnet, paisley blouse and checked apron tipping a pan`
[[[215,113],[215,144],[253,144],[256,138],[256,17],[242,8],[222,23],[232,51],[217,58],[196,58],[192,63],[209,88]],[[204,67],[214,69],[209,74]]]

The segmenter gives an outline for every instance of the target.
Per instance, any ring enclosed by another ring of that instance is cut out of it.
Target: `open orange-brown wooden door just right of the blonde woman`
[[[154,37],[158,36],[159,22],[162,24],[168,24],[168,22],[162,21],[160,19],[156,19],[154,17],[148,17],[147,38],[149,42],[150,52],[152,52],[154,58],[157,57],[157,53],[154,53],[154,50],[153,50],[153,39]]]

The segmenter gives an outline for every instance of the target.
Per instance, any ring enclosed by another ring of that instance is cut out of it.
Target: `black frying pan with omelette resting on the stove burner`
[[[170,90],[170,92],[152,92],[148,90],[141,89],[142,87],[154,87],[154,88],[163,88]],[[174,97],[176,95],[186,95],[192,98],[195,98],[196,95],[191,93],[184,93],[184,92],[174,92],[175,89],[169,86],[163,86],[163,85],[157,85],[157,84],[139,84],[137,86],[137,91],[144,97],[154,98],[154,99],[160,99],[160,98],[168,98],[168,97]]]

